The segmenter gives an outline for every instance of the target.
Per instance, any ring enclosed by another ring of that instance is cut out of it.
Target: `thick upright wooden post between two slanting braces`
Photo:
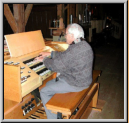
[[[13,11],[17,23],[17,33],[25,32],[24,4],[13,4]]]

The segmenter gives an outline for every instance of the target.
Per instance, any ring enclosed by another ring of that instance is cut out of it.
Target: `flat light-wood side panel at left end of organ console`
[[[20,66],[4,65],[4,98],[16,102],[22,100]]]

